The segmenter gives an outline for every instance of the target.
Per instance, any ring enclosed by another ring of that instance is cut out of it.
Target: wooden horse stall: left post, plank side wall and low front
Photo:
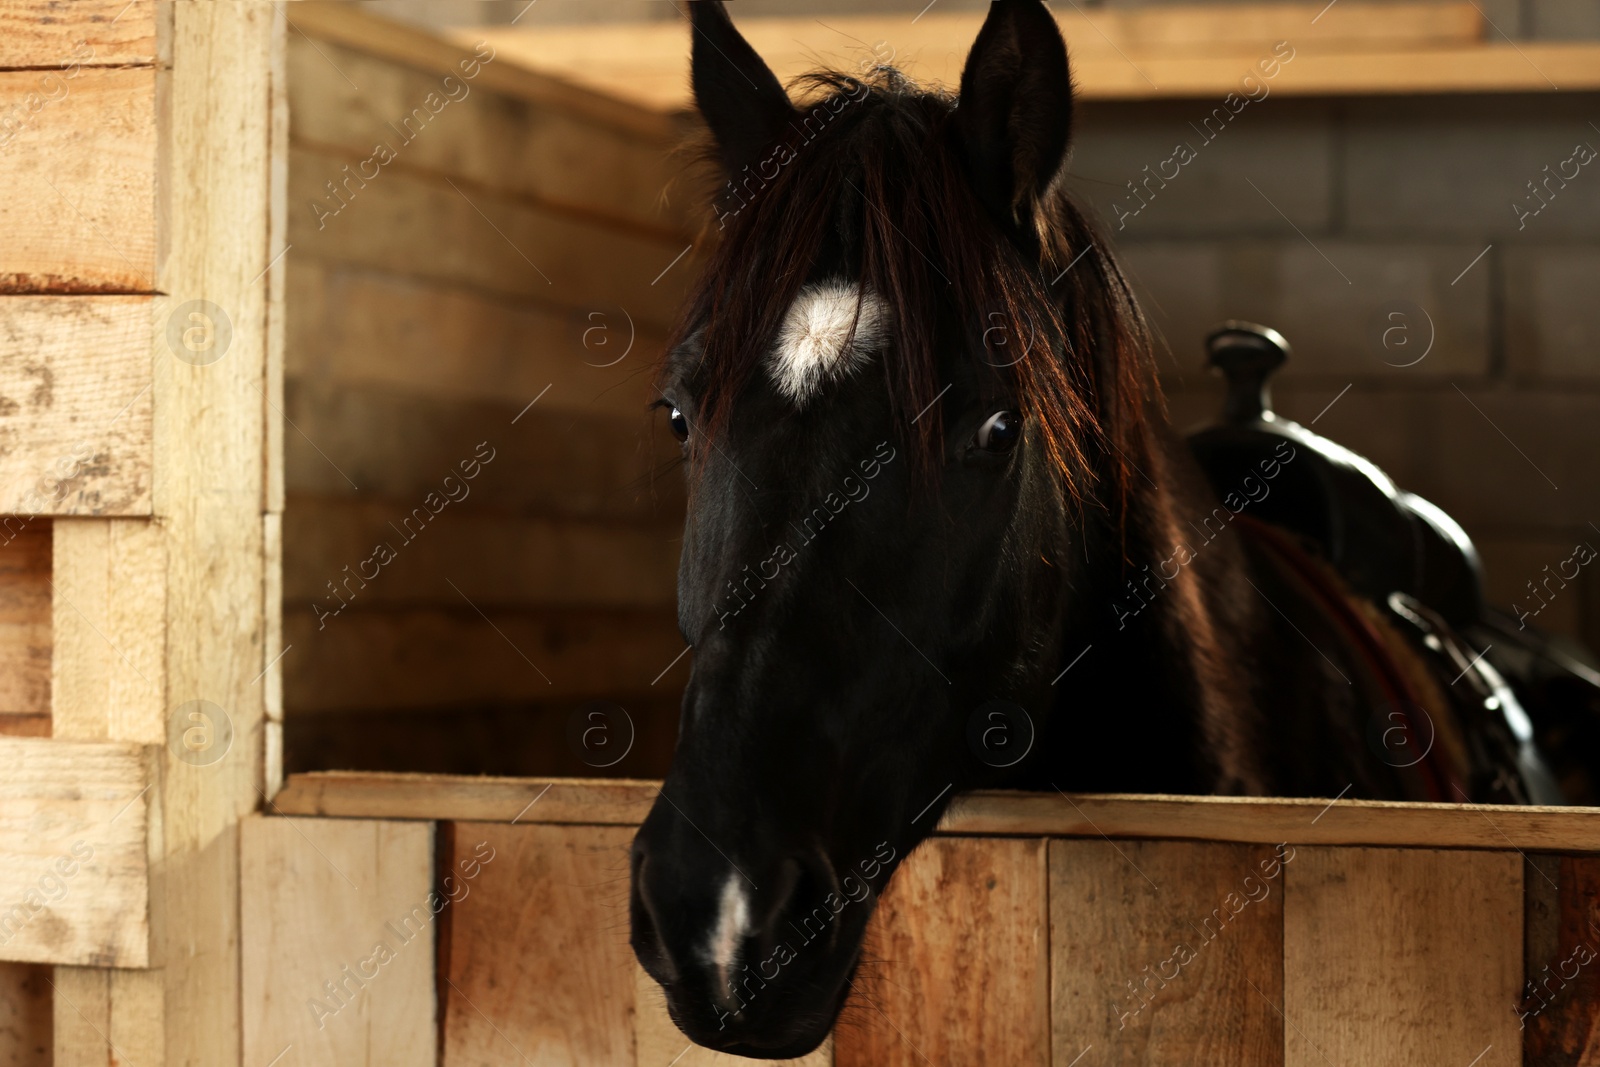
[[[718,1061],[627,949],[654,784],[349,769],[592,773],[608,701],[654,774],[688,664],[688,126],[490,51],[0,0],[0,1064]],[[1595,1064],[1600,811],[979,795],[869,950],[810,1062]]]

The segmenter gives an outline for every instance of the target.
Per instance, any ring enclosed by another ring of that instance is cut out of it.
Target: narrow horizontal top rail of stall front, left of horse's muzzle
[[[274,800],[285,814],[453,819],[518,825],[638,825],[661,782],[328,771],[290,774]],[[518,817],[520,816],[520,817]]]

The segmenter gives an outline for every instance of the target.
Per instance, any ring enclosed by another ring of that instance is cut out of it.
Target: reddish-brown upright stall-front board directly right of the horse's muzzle
[[[886,966],[856,977],[838,1067],[1050,1064],[1048,921],[1043,840],[923,843],[872,918]]]

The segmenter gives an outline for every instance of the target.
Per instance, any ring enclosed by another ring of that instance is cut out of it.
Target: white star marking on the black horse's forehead
[[[866,299],[854,285],[822,282],[800,290],[778,331],[768,371],[778,392],[805,405],[824,382],[843,378],[883,347],[890,330],[888,302]]]

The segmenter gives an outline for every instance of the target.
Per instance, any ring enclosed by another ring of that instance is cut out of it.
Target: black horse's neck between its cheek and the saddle
[[[1061,654],[1083,657],[1056,712],[1088,744],[1067,765],[1078,787],[1259,792],[1248,561],[1237,536],[1205,539],[1216,501],[1187,446],[1152,437],[1120,522],[1098,512],[1082,531]]]

